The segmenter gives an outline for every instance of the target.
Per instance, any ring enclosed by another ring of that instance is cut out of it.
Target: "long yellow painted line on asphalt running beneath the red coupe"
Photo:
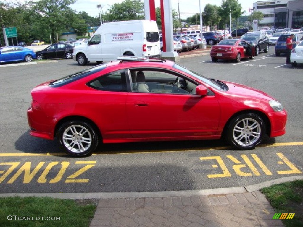
[[[289,142],[289,143],[273,143],[273,144],[261,144],[258,147],[270,147],[270,146],[303,146],[303,142]],[[203,148],[196,148],[195,150],[192,150],[190,148],[183,149],[183,150],[176,150],[176,149],[165,149],[165,150],[143,150],[143,151],[134,151],[134,150],[128,150],[128,151],[118,151],[118,152],[102,152],[100,153],[93,153],[92,155],[98,155],[98,154],[143,154],[143,153],[163,153],[163,152],[187,152],[187,151],[201,151],[201,150],[225,150],[229,149],[231,147],[227,146],[221,146],[221,147],[203,147]],[[11,157],[11,156],[66,156],[66,153],[0,153],[0,157]]]

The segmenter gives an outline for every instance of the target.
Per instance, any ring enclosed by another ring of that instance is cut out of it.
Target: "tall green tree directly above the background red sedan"
[[[225,27],[225,24],[228,24],[230,13],[231,18],[235,19],[235,21],[245,13],[245,11],[242,11],[242,6],[238,0],[222,0],[221,7],[219,8],[219,15],[221,17],[220,26]]]

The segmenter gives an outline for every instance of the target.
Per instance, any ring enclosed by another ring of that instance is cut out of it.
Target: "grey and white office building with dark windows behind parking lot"
[[[303,0],[260,1],[253,3],[253,10],[264,15],[258,23],[259,27],[303,27]]]

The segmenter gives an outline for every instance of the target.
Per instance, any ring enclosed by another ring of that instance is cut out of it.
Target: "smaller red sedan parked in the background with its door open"
[[[241,39],[225,39],[211,47],[210,56],[212,61],[235,60],[240,62],[242,58],[255,58],[255,47]]]

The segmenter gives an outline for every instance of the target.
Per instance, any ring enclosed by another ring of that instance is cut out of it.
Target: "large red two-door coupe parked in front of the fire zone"
[[[209,79],[172,61],[127,56],[45,82],[32,92],[30,134],[58,137],[72,156],[98,143],[225,138],[241,150],[285,133],[273,97]]]

